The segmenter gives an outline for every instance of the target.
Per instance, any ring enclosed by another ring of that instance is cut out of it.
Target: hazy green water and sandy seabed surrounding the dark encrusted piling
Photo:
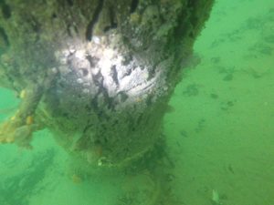
[[[194,61],[163,123],[174,194],[184,205],[273,205],[273,0],[216,1]],[[0,120],[18,103],[1,88]],[[123,189],[120,179],[69,176],[47,130],[33,147],[0,146],[0,205],[112,205]]]

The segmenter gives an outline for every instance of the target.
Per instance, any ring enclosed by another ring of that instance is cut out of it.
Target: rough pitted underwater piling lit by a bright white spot
[[[22,103],[0,142],[47,127],[93,167],[161,138],[167,101],[213,0],[2,0],[0,86]]]

